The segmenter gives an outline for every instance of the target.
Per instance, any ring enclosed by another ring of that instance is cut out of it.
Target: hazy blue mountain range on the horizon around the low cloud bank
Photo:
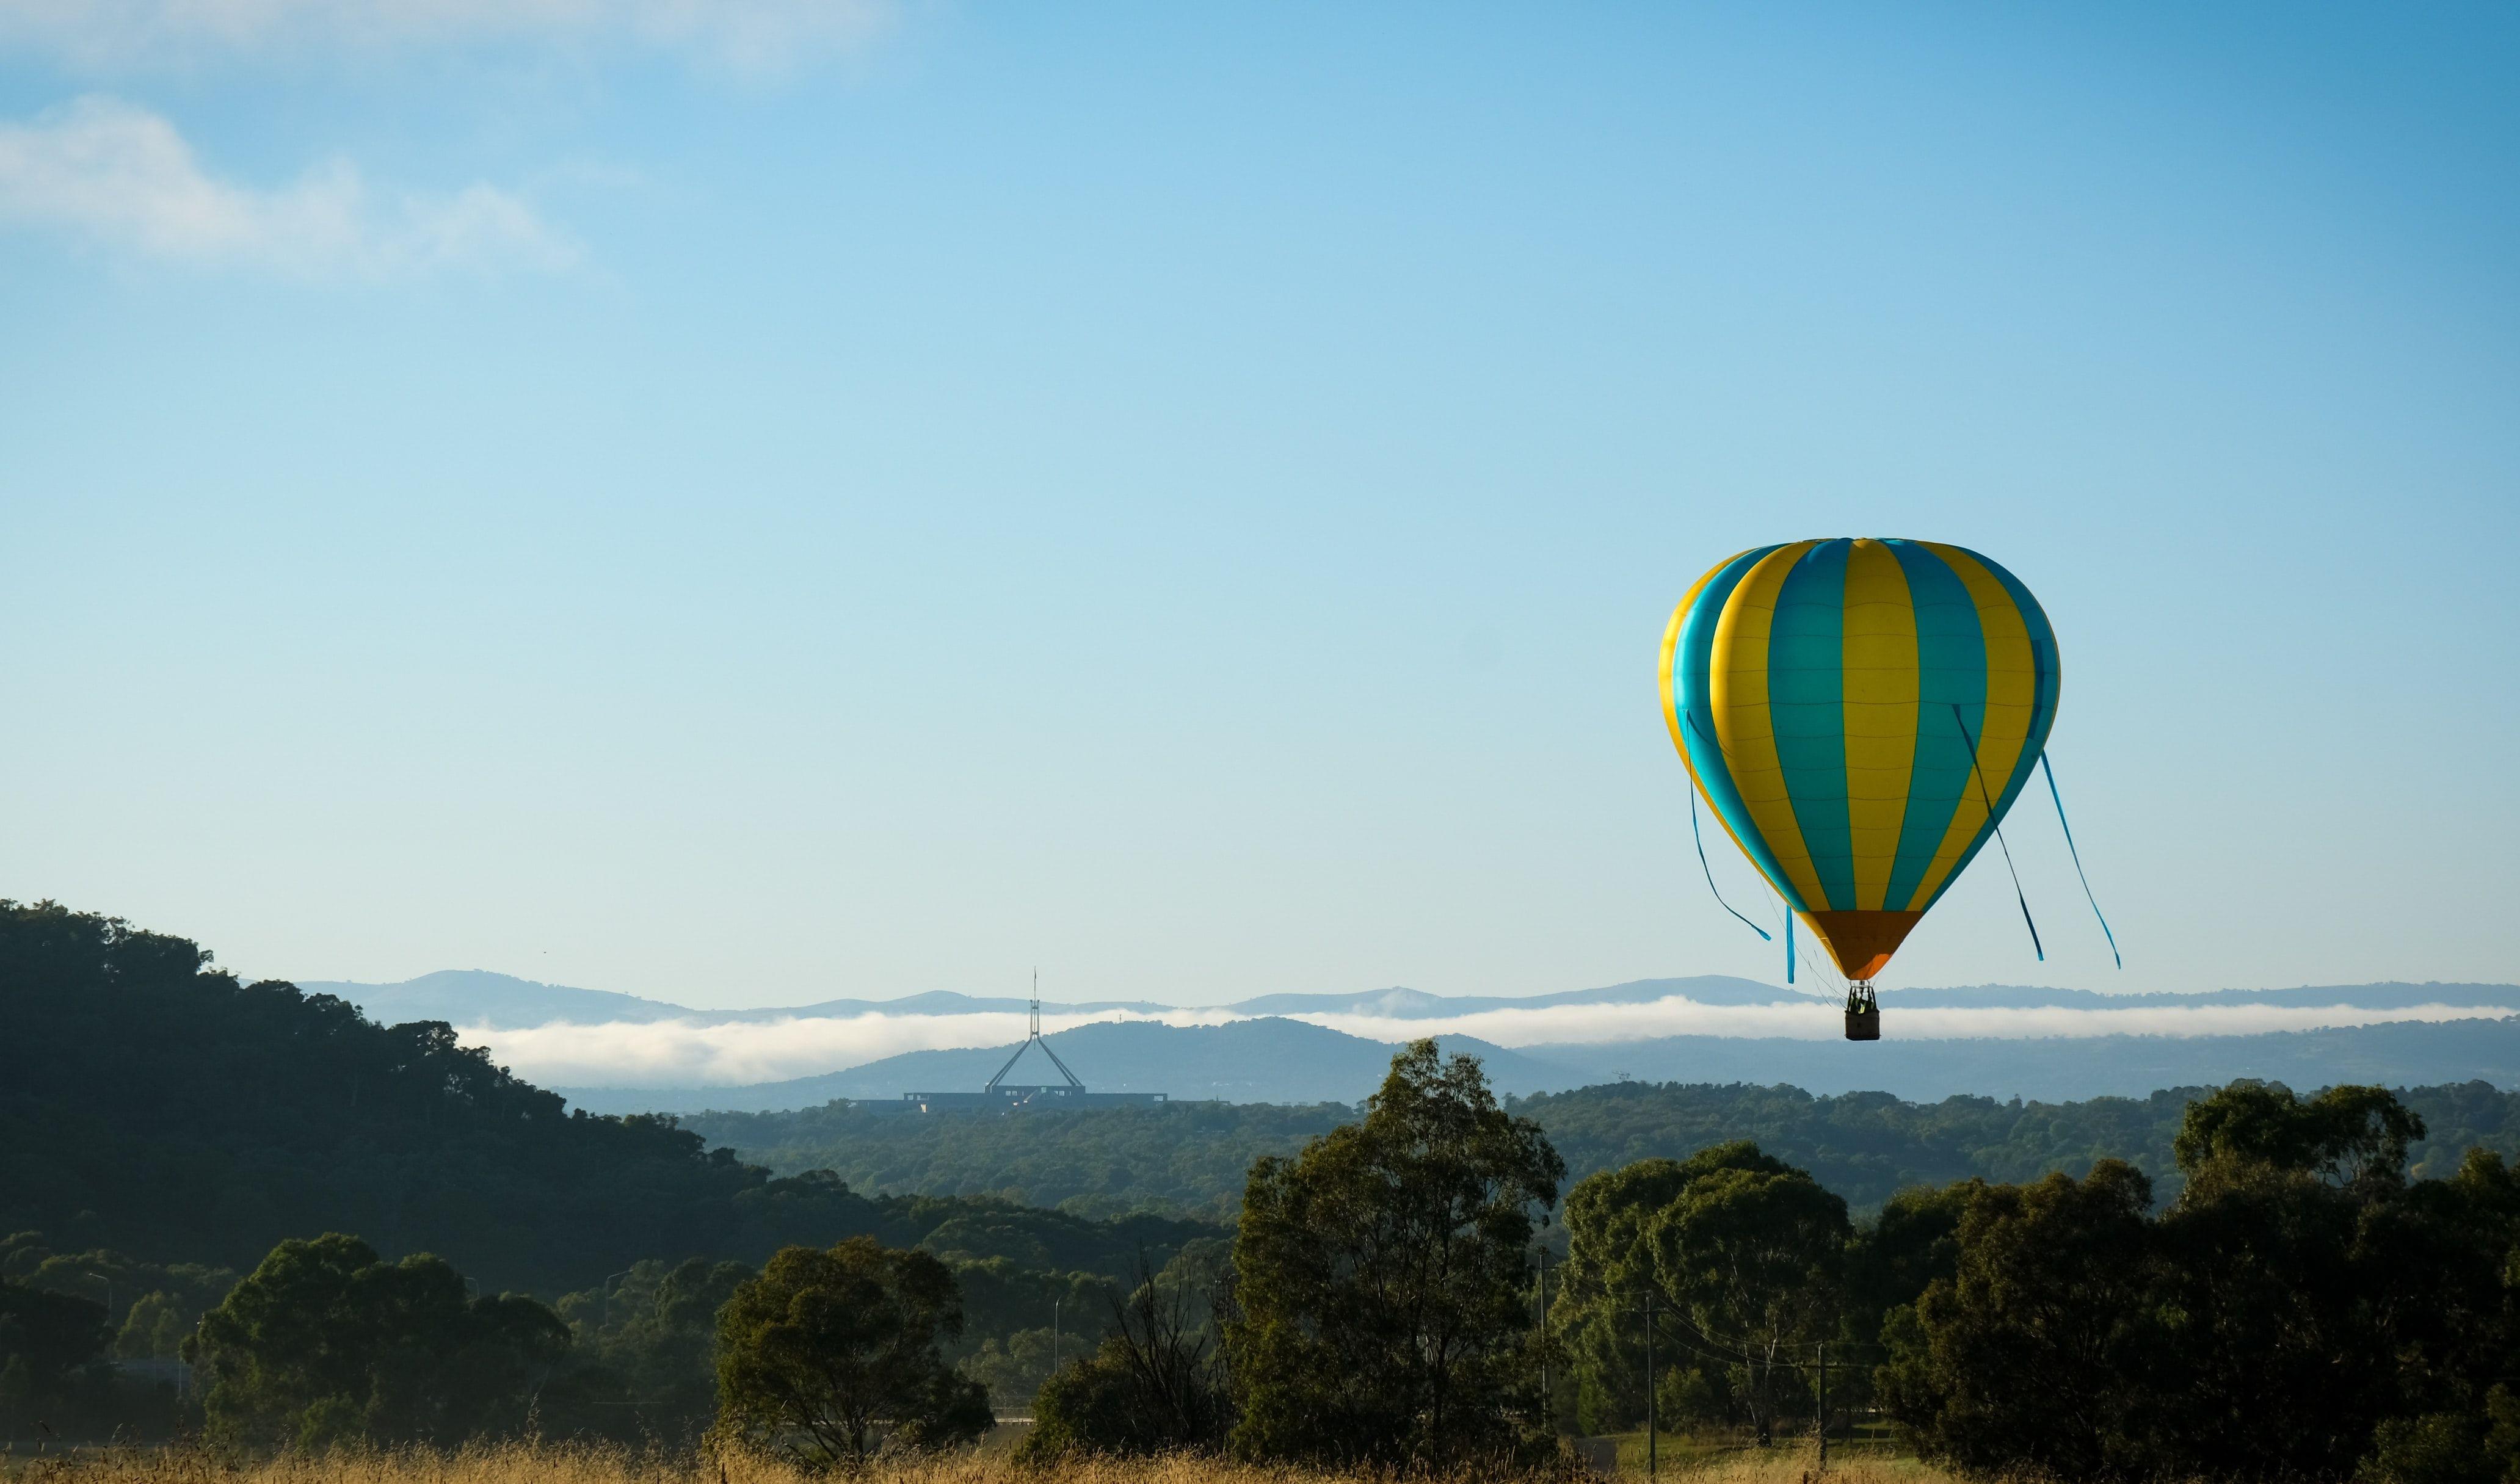
[[[663,1000],[539,985],[481,970],[449,970],[401,985],[302,983],[358,1003],[370,1018],[449,1020],[476,1030],[570,1025],[776,1025],[781,1020],[852,1015],[1005,1015],[1021,998],[927,993],[900,1000],[822,1000],[756,1010],[693,1010]],[[1174,1099],[1353,1104],[1373,1091],[1391,1063],[1394,1041],[1411,1020],[1434,1023],[1446,1051],[1479,1056],[1504,1093],[1540,1093],[1605,1081],[1691,1083],[1792,1083],[1814,1093],[1887,1091],[1903,1099],[1956,1093],[2092,1099],[2139,1096],[2165,1086],[2220,1083],[2258,1076],[2296,1086],[2379,1081],[2391,1086],[2482,1078],[2520,1088],[2520,985],[2328,985],[2291,990],[2215,990],[2202,995],[2049,990],[2021,985],[1968,985],[1938,990],[1885,990],[1885,1041],[1852,1046],[1782,1036],[1638,1036],[1615,1015],[1585,1041],[1499,1046],[1459,1036],[1441,1023],[1494,1010],[1572,1010],[1656,1005],[1686,998],[1696,1005],[1782,1005],[1792,1015],[1827,1015],[1835,998],[1807,995],[1756,980],[1698,975],[1635,980],[1595,990],[1527,998],[1429,995],[1391,988],[1353,995],[1260,995],[1207,1013],[1240,1015],[1222,1025],[1167,1025],[1159,1020],[1086,1023],[1058,1030],[1051,1043],[1096,1091],[1162,1091]],[[2089,1033],[2008,1036],[1968,1033],[1971,1013],[2074,1010],[2104,1013],[2099,1028],[2127,1013],[2129,1025],[2155,1025],[2160,1010],[2258,1005],[2265,1010],[2351,1008],[2407,1015],[2429,1005],[2465,1015],[2457,1020],[2399,1020],[2376,1025],[2326,1025],[2263,1033]],[[1043,1003],[1048,1015],[1162,1015],[1177,1008],[1147,1000]],[[1903,1036],[1903,1013],[1933,1013]],[[2142,1015],[2142,1013],[2152,1015]],[[1767,1013],[1767,1010],[1751,1010]],[[1303,1015],[1303,1020],[1298,1020]],[[1179,1015],[1177,1015],[1179,1018]],[[1313,1023],[1366,1020],[1373,1036]],[[1557,1018],[1535,1023],[1535,1030]],[[1938,1036],[1918,1030],[1945,1025]],[[1963,1025],[1950,1030],[1948,1025]],[[1482,1023],[1484,1028],[1484,1023]],[[985,1036],[983,1036],[985,1030]],[[960,1033],[960,1028],[948,1028]],[[1003,1041],[1003,1020],[973,1028],[993,1046],[910,1051],[784,1081],[743,1086],[559,1086],[590,1111],[779,1111],[832,1099],[897,1101],[912,1091],[970,1091],[998,1071],[1016,1043]],[[1381,1038],[1381,1036],[1389,1036]],[[1512,1033],[1507,1033],[1515,1038]],[[1623,1036],[1623,1038],[1620,1038]],[[585,1081],[585,1078],[580,1078]],[[633,1081],[633,1078],[622,1078]],[[1023,1081],[1023,1078],[1018,1078]]]

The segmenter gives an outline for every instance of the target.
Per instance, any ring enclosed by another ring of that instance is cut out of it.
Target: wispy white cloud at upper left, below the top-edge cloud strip
[[[348,161],[277,189],[214,179],[174,123],[103,96],[0,123],[0,222],[292,277],[557,270],[577,257],[532,207],[484,184],[378,191]]]

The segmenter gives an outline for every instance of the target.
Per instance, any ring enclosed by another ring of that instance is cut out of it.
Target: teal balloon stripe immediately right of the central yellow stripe
[[[1887,542],[1908,574],[1915,607],[1915,771],[1908,779],[1908,814],[1900,819],[1898,857],[1882,905],[1903,912],[1950,831],[1961,799],[1976,791],[1968,743],[1950,726],[1950,708],[1968,718],[1968,733],[1986,731],[1986,632],[1968,585],[1940,557],[1915,542]]]

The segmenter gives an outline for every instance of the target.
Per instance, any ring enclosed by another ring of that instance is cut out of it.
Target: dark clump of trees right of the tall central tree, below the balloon
[[[1578,1411],[1764,1439],[1877,1408],[1971,1476],[2520,1476],[2520,1172],[2407,1179],[2427,1131],[2381,1088],[2233,1083],[2180,1119],[2167,1207],[2102,1159],[1867,1224],[1754,1144],[1603,1172],[1567,1194]]]

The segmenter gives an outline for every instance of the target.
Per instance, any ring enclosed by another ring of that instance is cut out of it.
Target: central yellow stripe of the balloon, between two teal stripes
[[[1845,728],[1847,836],[1855,844],[1855,907],[1880,912],[1908,819],[1915,768],[1915,605],[1890,547],[1860,539],[1847,552]]]

